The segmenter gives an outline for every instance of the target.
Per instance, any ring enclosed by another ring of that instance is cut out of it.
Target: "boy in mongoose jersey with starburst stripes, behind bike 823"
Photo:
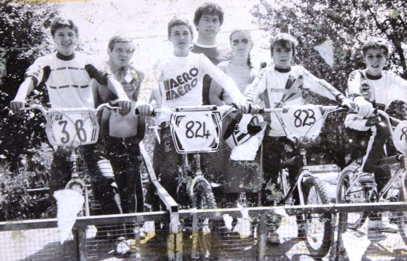
[[[275,65],[260,70],[253,83],[247,86],[245,90],[247,100],[253,103],[255,97],[260,95],[263,98],[265,108],[300,105],[302,104],[303,89],[310,89],[317,94],[350,107],[350,100],[325,80],[313,76],[301,65],[291,66],[297,45],[297,40],[287,33],[279,33],[271,38],[270,51]],[[258,109],[255,108],[252,113],[257,113],[257,111]],[[293,143],[286,137],[276,115],[274,113],[266,115],[265,121],[267,122],[266,135],[263,139],[263,175],[265,183],[261,200],[262,204],[267,206],[271,202],[267,202],[266,190],[277,184],[282,153],[285,150],[289,158],[295,155],[293,154]],[[295,185],[295,178],[300,168],[301,162],[289,167],[291,186]],[[293,192],[293,199],[295,204],[300,203],[296,189]],[[275,231],[280,225],[278,221],[280,218],[277,219],[275,229],[268,235],[267,241],[271,244],[279,243],[278,234]]]

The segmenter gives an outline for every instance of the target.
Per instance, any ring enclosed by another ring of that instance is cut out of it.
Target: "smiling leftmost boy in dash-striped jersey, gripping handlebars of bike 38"
[[[51,35],[56,44],[57,52],[47,54],[35,60],[28,67],[25,79],[20,85],[17,95],[11,101],[13,113],[23,116],[26,96],[39,83],[44,83],[48,91],[52,108],[94,108],[94,99],[90,80],[95,78],[107,86],[118,96],[120,113],[126,115],[130,111],[130,100],[123,87],[109,72],[98,70],[90,57],[75,53],[78,39],[78,28],[68,18],[57,16],[51,22]],[[50,195],[63,189],[70,179],[70,163],[65,153],[66,147],[59,147],[54,153],[50,174]],[[92,178],[94,195],[102,204],[103,214],[118,213],[115,195],[117,186],[112,172],[104,172],[99,163],[106,163],[103,150],[95,144],[82,146],[83,157]],[[103,165],[101,164],[101,165]]]

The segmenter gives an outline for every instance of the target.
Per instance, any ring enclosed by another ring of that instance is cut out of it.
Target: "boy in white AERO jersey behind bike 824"
[[[247,103],[232,78],[213,65],[204,54],[189,53],[193,30],[188,20],[175,17],[168,23],[168,40],[173,44],[173,54],[158,59],[153,66],[153,78],[158,81],[162,107],[202,105],[202,79],[209,74],[232,97],[237,107],[247,111]],[[140,115],[150,115],[151,104],[137,107]],[[160,144],[154,148],[154,170],[160,175],[163,187],[170,196],[177,198],[181,154],[175,150],[171,137],[169,115],[160,113]]]

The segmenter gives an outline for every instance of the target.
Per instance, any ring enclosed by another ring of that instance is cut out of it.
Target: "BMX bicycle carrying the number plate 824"
[[[222,120],[227,113],[237,111],[234,107],[224,106],[191,106],[174,107],[171,109],[155,109],[155,113],[170,115],[170,131],[175,149],[182,154],[181,182],[177,187],[178,202],[195,209],[215,209],[217,202],[211,183],[204,177],[201,169],[200,153],[216,152],[219,149]],[[226,113],[226,114],[225,114]],[[138,110],[136,110],[138,114]],[[225,114],[225,115],[224,115]],[[157,127],[149,127],[157,135]],[[187,198],[188,203],[184,203]],[[213,259],[216,257],[214,248],[219,245],[217,234],[221,218],[198,219],[193,215],[191,230],[191,258]],[[188,222],[186,222],[188,223]],[[199,225],[198,225],[199,224]],[[214,232],[214,233],[211,233]],[[219,233],[218,233],[219,232]]]

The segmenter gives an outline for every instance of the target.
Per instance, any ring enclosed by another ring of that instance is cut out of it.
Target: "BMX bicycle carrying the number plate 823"
[[[339,106],[293,105],[274,109],[260,109],[260,114],[275,113],[287,138],[294,142],[296,156],[281,163],[279,195],[268,196],[269,200],[281,205],[293,204],[292,196],[298,189],[300,205],[329,204],[330,200],[323,181],[311,174],[306,160],[306,148],[317,143],[318,136],[328,113],[341,110]],[[287,184],[285,168],[301,162],[302,167],[295,177],[295,183]],[[267,164],[267,162],[264,162]],[[289,189],[287,189],[289,187]],[[300,219],[300,220],[298,220]],[[306,214],[297,216],[298,238],[305,241],[312,257],[326,256],[331,245],[332,215]]]

